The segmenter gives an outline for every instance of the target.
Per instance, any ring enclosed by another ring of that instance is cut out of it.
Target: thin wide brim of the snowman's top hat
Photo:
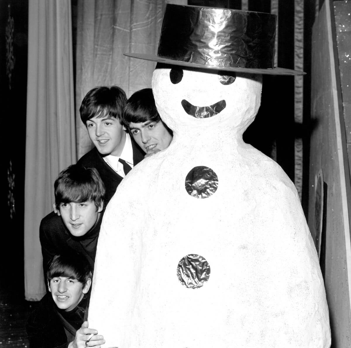
[[[143,53],[124,53],[125,56],[137,58],[137,59],[145,59],[149,61],[171,64],[171,65],[179,65],[187,68],[196,68],[196,69],[209,69],[209,70],[219,70],[219,71],[235,71],[247,74],[265,74],[265,75],[304,75],[306,74],[303,71],[285,69],[285,68],[241,68],[241,67],[233,67],[233,66],[218,66],[218,65],[206,65],[194,62],[185,62],[182,60],[175,60],[169,58],[163,58],[155,54],[143,54]]]

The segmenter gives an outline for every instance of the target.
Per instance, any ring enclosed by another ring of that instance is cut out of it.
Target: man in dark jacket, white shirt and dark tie
[[[121,122],[126,102],[126,94],[121,88],[101,86],[86,94],[79,109],[95,148],[78,163],[98,170],[106,187],[106,204],[122,179],[144,158]]]

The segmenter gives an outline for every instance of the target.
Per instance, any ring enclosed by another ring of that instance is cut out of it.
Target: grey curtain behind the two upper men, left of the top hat
[[[186,0],[172,1],[186,5]],[[157,52],[165,0],[78,0],[76,129],[77,155],[92,148],[79,106],[95,86],[118,85],[129,97],[151,87],[155,63],[123,53]]]

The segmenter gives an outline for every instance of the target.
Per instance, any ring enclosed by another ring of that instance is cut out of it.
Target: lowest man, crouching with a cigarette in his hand
[[[88,328],[86,317],[92,279],[81,254],[55,255],[48,265],[46,294],[29,315],[26,330],[31,348],[100,346],[104,337]]]

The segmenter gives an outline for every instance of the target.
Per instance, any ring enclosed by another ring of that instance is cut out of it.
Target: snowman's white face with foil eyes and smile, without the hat
[[[261,102],[262,75],[158,64],[152,90],[161,118],[175,133],[214,126],[244,131]]]

